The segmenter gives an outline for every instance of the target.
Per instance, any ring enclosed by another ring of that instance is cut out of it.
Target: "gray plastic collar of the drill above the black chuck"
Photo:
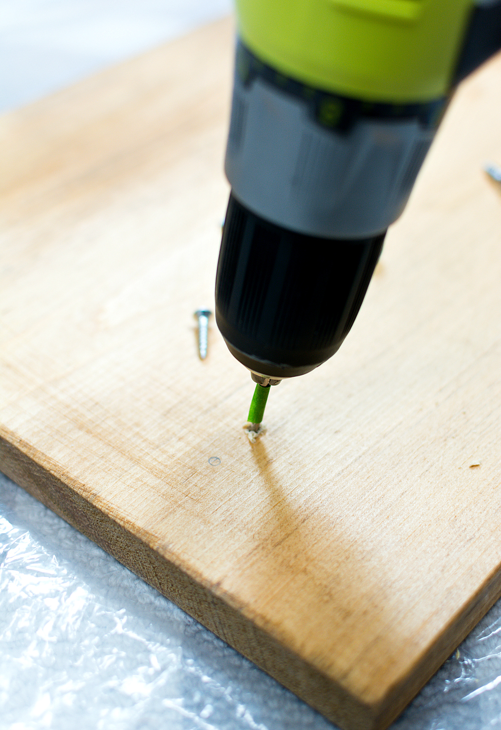
[[[330,130],[301,99],[235,74],[225,172],[234,196],[278,226],[366,238],[401,214],[434,134],[416,119],[360,118],[347,132]]]

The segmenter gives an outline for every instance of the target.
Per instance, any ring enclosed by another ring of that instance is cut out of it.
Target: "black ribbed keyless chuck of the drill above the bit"
[[[234,356],[255,372],[294,377],[334,355],[362,305],[384,236],[294,233],[230,196],[215,317]]]

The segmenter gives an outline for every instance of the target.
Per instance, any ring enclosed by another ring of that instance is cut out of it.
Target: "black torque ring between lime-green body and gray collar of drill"
[[[422,128],[436,129],[450,100],[449,96],[443,96],[416,104],[396,104],[340,96],[280,74],[272,66],[260,61],[240,40],[237,43],[235,69],[243,85],[261,79],[307,104],[311,117],[318,124],[341,133],[349,131],[359,118],[395,121],[417,119]]]

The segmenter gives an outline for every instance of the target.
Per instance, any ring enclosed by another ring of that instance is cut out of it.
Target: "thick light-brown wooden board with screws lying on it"
[[[359,318],[242,425],[213,323],[232,24],[1,118],[1,469],[343,728],[501,592],[501,59],[460,89]],[[211,464],[216,456],[218,464]],[[477,465],[478,466],[475,466]]]

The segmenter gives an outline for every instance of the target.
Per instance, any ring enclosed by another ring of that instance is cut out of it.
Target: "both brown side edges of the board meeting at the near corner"
[[[383,702],[368,707],[99,510],[77,491],[76,484],[64,483],[38,464],[36,454],[28,456],[33,447],[1,430],[0,469],[7,477],[343,730],[387,728],[501,596],[501,569],[497,569]]]

